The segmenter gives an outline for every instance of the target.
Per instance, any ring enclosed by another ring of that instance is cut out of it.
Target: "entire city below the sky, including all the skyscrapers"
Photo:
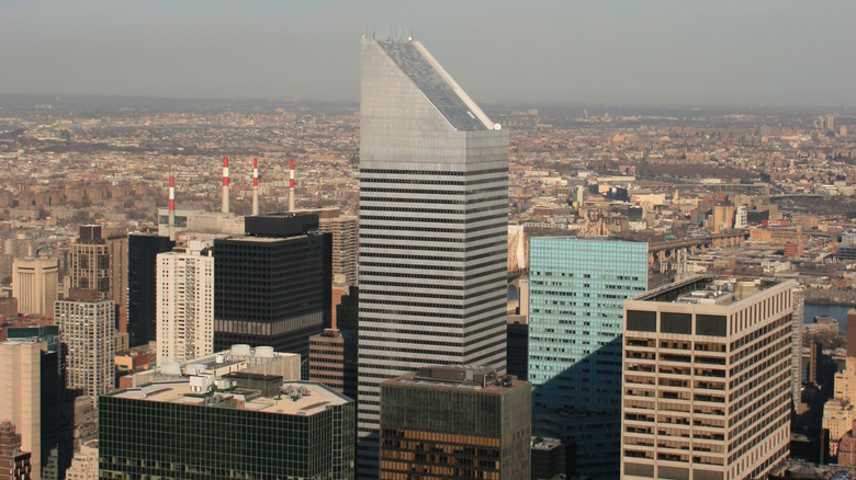
[[[856,478],[856,115],[0,95],[0,480]]]

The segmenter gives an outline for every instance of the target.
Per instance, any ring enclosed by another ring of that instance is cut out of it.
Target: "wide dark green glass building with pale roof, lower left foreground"
[[[194,393],[192,380],[99,398],[101,478],[353,478],[352,400],[301,381]]]

